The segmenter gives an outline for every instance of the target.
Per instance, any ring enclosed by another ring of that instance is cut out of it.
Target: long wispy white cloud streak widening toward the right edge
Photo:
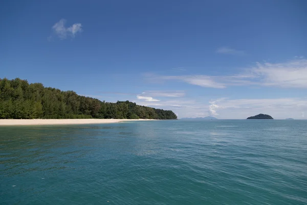
[[[268,86],[284,88],[307,88],[307,60],[304,58],[283,63],[256,63],[254,67],[233,75],[151,75],[150,81],[178,80],[185,83],[207,87],[226,88],[229,86]]]

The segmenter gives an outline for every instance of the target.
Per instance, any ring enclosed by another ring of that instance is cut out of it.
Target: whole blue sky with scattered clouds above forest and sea
[[[15,1],[0,78],[182,117],[307,119],[307,2]]]

